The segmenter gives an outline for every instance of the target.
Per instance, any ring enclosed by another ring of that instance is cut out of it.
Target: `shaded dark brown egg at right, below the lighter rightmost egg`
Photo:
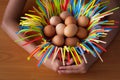
[[[76,35],[80,39],[85,39],[88,36],[88,31],[85,28],[79,27]]]

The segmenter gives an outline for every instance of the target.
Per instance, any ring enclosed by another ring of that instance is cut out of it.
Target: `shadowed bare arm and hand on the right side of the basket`
[[[101,0],[101,1],[106,1],[106,0]],[[110,4],[108,5],[108,10],[118,7],[120,3],[118,3],[119,0],[111,0]],[[101,44],[104,48],[110,45],[111,41],[114,39],[116,34],[119,32],[119,26],[120,26],[120,10],[115,11],[115,13],[109,17],[107,17],[110,20],[116,20],[118,21],[118,28],[113,29],[106,38],[103,39],[103,41],[106,41],[107,44]],[[91,55],[87,55],[86,57],[88,59],[88,64],[85,64],[83,62],[80,65],[71,65],[74,63],[73,59],[71,59],[71,62],[68,64],[68,66],[60,66],[58,73],[60,74],[72,74],[72,73],[86,73],[88,69],[96,62],[98,58],[94,58]]]

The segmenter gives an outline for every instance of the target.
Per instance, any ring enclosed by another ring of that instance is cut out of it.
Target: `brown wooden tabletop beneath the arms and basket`
[[[0,23],[8,0],[0,0]],[[26,60],[28,53],[14,43],[0,29],[0,80],[120,80],[120,34],[87,74],[59,75],[43,65],[38,68],[36,59]]]

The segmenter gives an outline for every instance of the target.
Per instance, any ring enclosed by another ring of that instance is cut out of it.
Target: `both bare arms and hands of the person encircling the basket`
[[[17,27],[19,25],[19,18],[24,10],[25,4],[27,0],[9,0],[9,3],[7,5],[4,18],[2,21],[2,28],[3,30],[13,39],[17,40],[19,37],[15,34],[19,28]],[[114,4],[114,5],[113,5]],[[112,2],[112,5],[109,7],[115,7],[117,3],[115,1]],[[18,6],[19,5],[19,6]],[[9,13],[9,14],[8,14]],[[113,19],[118,20],[118,18],[113,15]],[[120,18],[119,18],[120,19]],[[117,34],[119,29],[113,29],[107,38],[104,40],[107,42],[106,45],[102,45],[103,47],[107,47],[110,42],[113,40],[115,35]],[[35,49],[34,44],[30,44],[29,46],[22,46],[22,44],[25,43],[25,41],[18,42],[17,44],[21,46],[23,49],[25,49],[28,53],[31,53]],[[53,64],[50,63],[51,59],[48,59],[46,63],[43,63],[46,67],[60,73],[60,74],[71,74],[71,73],[86,73],[91,65],[93,65],[94,62],[96,62],[97,58],[94,58],[91,55],[87,55],[88,64],[85,64],[83,61],[82,64],[79,65],[73,65],[73,59],[71,59],[70,63],[66,63],[67,66],[62,66],[59,60],[55,60]],[[38,59],[35,55],[35,58]]]

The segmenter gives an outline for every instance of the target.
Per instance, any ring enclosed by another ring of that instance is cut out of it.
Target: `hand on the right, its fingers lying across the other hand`
[[[92,57],[89,54],[86,54],[88,63],[84,61],[79,65],[72,65],[74,63],[73,59],[70,60],[70,63],[66,63],[67,66],[60,66],[58,73],[60,74],[72,74],[72,73],[86,73],[89,67],[97,60],[97,58]]]

